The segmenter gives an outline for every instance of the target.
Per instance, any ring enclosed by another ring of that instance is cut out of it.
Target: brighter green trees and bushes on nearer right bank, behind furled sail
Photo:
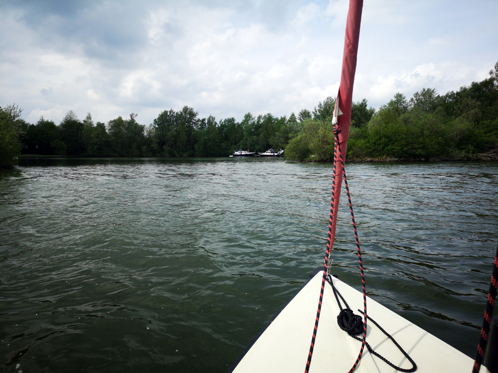
[[[332,115],[308,118],[285,148],[288,158],[331,161]],[[349,160],[498,160],[498,62],[489,78],[440,95],[396,93],[378,110],[353,105]]]

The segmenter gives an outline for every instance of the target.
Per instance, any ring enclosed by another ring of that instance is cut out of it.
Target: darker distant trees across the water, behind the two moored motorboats
[[[358,107],[366,108],[366,100]],[[85,119],[69,110],[59,124],[43,116],[34,123],[20,118],[17,105],[0,107],[13,130],[8,141],[11,150],[0,163],[19,154],[75,157],[177,157],[228,156],[234,149],[264,152],[269,148],[285,149],[302,130],[307,120],[325,121],[334,110],[335,100],[327,97],[312,111],[301,110],[296,116],[253,115],[242,121],[230,117],[219,121],[212,115],[199,118],[192,107],[164,110],[145,126],[137,114],[119,116],[107,123],[94,122],[91,113]],[[360,110],[361,111],[361,110]],[[368,110],[367,110],[368,111]]]

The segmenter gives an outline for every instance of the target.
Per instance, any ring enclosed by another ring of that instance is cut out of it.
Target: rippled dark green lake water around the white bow
[[[473,357],[498,163],[347,172],[369,295]],[[24,160],[2,172],[0,371],[226,372],[323,262],[331,174],[230,158]],[[341,205],[333,272],[360,288]]]

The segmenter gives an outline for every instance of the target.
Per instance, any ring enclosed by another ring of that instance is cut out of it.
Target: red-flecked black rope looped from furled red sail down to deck
[[[366,343],[366,338],[367,338],[367,292],[365,289],[365,275],[364,275],[364,271],[363,271],[362,254],[361,254],[361,250],[360,250],[360,241],[358,239],[358,232],[356,229],[355,215],[353,213],[353,204],[351,203],[351,196],[349,193],[348,180],[346,178],[346,170],[344,167],[344,160],[343,160],[342,151],[341,151],[341,144],[339,142],[339,133],[340,132],[341,132],[341,129],[339,129],[339,128],[334,130],[335,147],[336,147],[335,149],[337,149],[337,151],[339,153],[339,158],[341,161],[342,175],[344,177],[344,182],[346,185],[346,192],[348,194],[349,207],[350,207],[350,211],[351,211],[351,219],[353,221],[353,228],[355,230],[356,246],[358,249],[358,259],[360,261],[360,270],[361,270],[361,274],[362,274],[363,304],[364,304],[364,313],[363,313],[364,331],[363,331],[362,347],[360,349],[360,353],[358,354],[358,358],[356,359],[355,364],[353,365],[353,367],[349,371],[349,373],[352,373],[356,369],[356,367],[358,366],[358,363],[360,362],[360,359],[362,358],[362,355],[363,355],[363,351],[365,349],[365,343]],[[330,257],[330,252],[332,250],[332,235],[333,235],[332,226],[333,226],[333,219],[334,219],[334,192],[335,192],[335,185],[336,185],[336,183],[335,183],[335,181],[336,181],[336,165],[337,165],[337,155],[336,155],[336,152],[334,152],[334,168],[333,168],[333,179],[332,179],[333,184],[332,184],[332,197],[331,197],[331,201],[330,201],[329,233],[328,233],[328,240],[327,240],[327,251],[325,253],[324,271],[323,271],[323,276],[322,276],[322,285],[321,285],[321,289],[320,289],[320,298],[318,300],[318,310],[317,310],[316,318],[315,318],[315,327],[313,329],[313,336],[311,338],[311,345],[310,345],[310,351],[308,354],[308,361],[306,362],[306,368],[304,370],[305,373],[309,372],[309,368],[311,365],[311,358],[313,356],[313,348],[315,346],[316,333],[318,330],[318,322],[320,320],[320,312],[322,309],[323,291],[325,288],[325,280],[327,278],[327,269],[328,269],[328,264],[329,264],[329,257]]]

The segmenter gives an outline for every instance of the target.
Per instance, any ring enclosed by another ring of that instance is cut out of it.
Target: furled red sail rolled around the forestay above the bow
[[[341,129],[339,142],[343,159],[346,160],[348,150],[349,128],[351,124],[351,103],[353,100],[353,84],[355,83],[356,59],[358,55],[358,41],[360,39],[360,23],[362,20],[363,0],[350,0],[348,20],[346,23],[346,37],[344,40],[343,66],[341,73],[341,85],[336,99],[334,116],[337,117],[337,126]],[[336,154],[337,149],[336,149]],[[339,155],[338,155],[339,157]],[[339,159],[337,160],[339,162]],[[339,196],[341,195],[342,169],[336,167],[336,183],[334,191],[334,214],[332,218],[332,231],[330,247],[334,244],[336,235],[337,209],[339,207]]]

